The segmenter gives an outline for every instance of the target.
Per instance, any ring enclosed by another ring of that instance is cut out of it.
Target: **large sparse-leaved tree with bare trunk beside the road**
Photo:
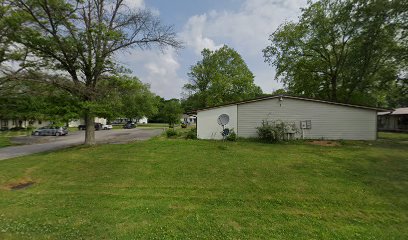
[[[14,14],[27,19],[14,41],[33,54],[33,69],[68,75],[49,83],[82,102],[87,125],[85,144],[95,144],[94,111],[98,83],[115,74],[115,55],[131,47],[179,48],[171,26],[148,10],[129,8],[124,0],[14,0]],[[30,66],[30,65],[28,65]]]

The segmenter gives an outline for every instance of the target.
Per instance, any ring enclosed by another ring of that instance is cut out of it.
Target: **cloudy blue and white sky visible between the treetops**
[[[183,49],[131,49],[117,57],[151,90],[166,99],[181,98],[187,73],[204,48],[224,44],[235,49],[255,75],[264,93],[282,87],[275,69],[264,62],[262,49],[269,35],[285,21],[296,21],[306,0],[126,0],[131,7],[149,9],[165,25],[173,25]]]

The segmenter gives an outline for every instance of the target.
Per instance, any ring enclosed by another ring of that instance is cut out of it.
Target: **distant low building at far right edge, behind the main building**
[[[408,107],[379,112],[377,118],[379,131],[408,132]]]

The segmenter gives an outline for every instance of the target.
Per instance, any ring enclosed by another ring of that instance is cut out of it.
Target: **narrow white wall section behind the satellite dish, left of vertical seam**
[[[197,113],[197,137],[199,139],[222,139],[222,126],[217,123],[217,119],[221,114],[227,114],[230,118],[225,127],[236,131],[237,105],[199,111]]]

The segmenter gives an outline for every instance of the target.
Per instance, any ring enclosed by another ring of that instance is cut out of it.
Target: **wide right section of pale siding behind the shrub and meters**
[[[262,120],[293,122],[298,128],[300,121],[311,120],[311,129],[304,130],[305,138],[375,140],[376,118],[377,112],[370,109],[274,98],[238,105],[238,136],[257,137],[256,127]]]

